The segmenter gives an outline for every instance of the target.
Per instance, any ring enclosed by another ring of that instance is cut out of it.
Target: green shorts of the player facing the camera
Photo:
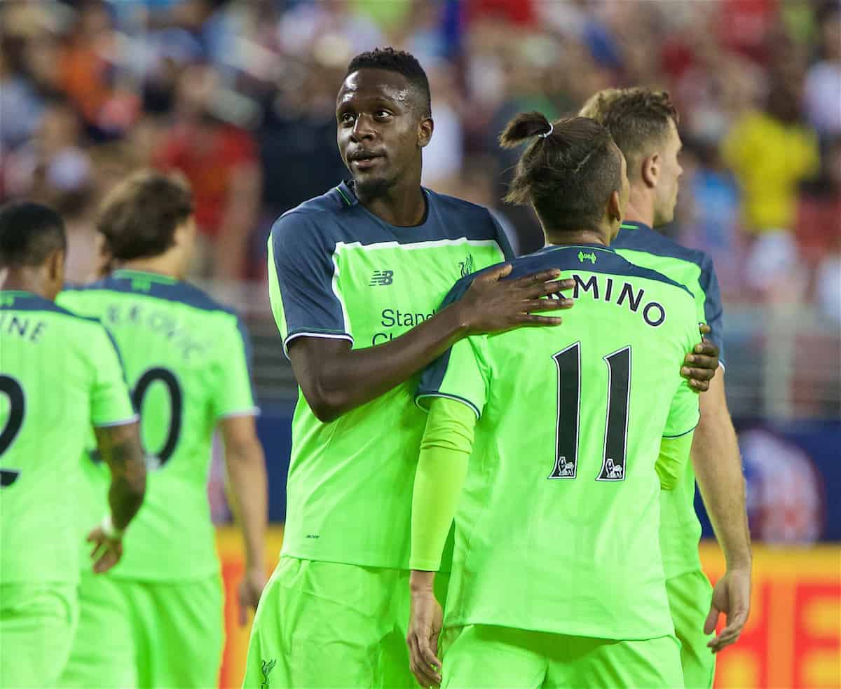
[[[447,575],[436,580],[446,586]],[[409,604],[408,570],[282,557],[257,607],[242,686],[416,687]]]

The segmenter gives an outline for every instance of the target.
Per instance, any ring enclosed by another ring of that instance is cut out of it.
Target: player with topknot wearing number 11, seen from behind
[[[607,248],[628,182],[601,125],[521,114],[500,137],[529,139],[506,199],[532,204],[547,246],[511,276],[559,269],[576,304],[561,329],[458,342],[421,378],[412,670],[442,679],[431,588],[458,507],[442,686],[683,686],[657,533],[698,420],[679,372],[695,302]]]

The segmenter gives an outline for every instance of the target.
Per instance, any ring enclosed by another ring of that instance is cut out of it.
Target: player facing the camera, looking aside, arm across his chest
[[[269,239],[272,310],[301,390],[287,520],[245,686],[414,686],[405,645],[412,482],[426,416],[415,374],[475,332],[531,315],[571,283],[543,271],[453,282],[510,258],[487,209],[421,188],[429,84],[413,56],[356,56],[336,99],[352,182],[283,215]],[[548,310],[565,308],[557,299]]]

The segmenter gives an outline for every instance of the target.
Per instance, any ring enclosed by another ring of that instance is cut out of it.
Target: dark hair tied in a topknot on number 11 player
[[[512,148],[532,138],[505,200],[532,204],[547,230],[598,230],[607,199],[622,186],[621,154],[610,133],[587,117],[550,125],[540,113],[521,113],[505,127],[500,144]]]

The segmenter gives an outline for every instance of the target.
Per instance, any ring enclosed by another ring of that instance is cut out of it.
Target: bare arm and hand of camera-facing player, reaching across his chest
[[[289,342],[295,378],[315,416],[335,421],[408,380],[468,335],[559,325],[559,317],[530,312],[572,306],[572,299],[540,298],[572,289],[573,281],[556,280],[558,270],[502,280],[510,270],[505,265],[483,273],[457,302],[378,347],[351,349],[349,342],[319,337]]]

